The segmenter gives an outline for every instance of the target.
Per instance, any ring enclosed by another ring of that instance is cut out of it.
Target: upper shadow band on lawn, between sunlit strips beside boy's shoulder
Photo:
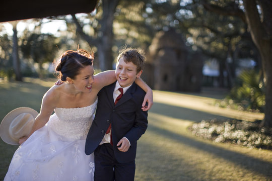
[[[183,120],[190,120],[194,122],[200,122],[202,120],[214,119],[214,118],[217,118],[218,120],[230,119],[228,117],[223,117],[223,116],[210,114],[210,113],[206,113],[202,111],[182,108],[178,106],[172,106],[172,105],[163,104],[163,103],[156,103],[156,102],[152,106],[152,109],[150,110],[150,112],[158,113],[158,114],[163,113],[163,115],[165,116],[169,116],[169,117],[177,118],[177,119],[183,119]]]

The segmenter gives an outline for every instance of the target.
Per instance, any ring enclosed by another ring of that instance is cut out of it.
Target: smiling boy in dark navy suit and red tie
[[[122,50],[115,69],[117,81],[98,94],[85,145],[85,153],[95,155],[95,181],[134,180],[137,140],[148,125],[148,113],[142,111],[146,93],[134,82],[143,72],[144,61],[141,50]]]

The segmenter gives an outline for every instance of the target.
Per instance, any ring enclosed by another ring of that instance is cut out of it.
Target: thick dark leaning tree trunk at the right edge
[[[255,43],[256,47],[260,52],[262,59],[262,70],[265,82],[265,109],[264,109],[264,120],[262,125],[272,128],[272,51],[271,41],[271,26],[269,21],[272,18],[271,14],[271,2],[270,1],[259,1],[263,20],[261,21],[257,5],[255,0],[244,0],[245,16],[248,28]],[[268,22],[266,22],[268,21]]]

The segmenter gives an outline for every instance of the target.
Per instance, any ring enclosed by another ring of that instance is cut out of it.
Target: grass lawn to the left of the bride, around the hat
[[[54,82],[54,79],[43,81],[34,78],[24,78],[24,82],[0,80],[0,120],[19,107],[30,107],[39,112],[42,97]],[[0,180],[4,179],[17,148],[0,139]]]

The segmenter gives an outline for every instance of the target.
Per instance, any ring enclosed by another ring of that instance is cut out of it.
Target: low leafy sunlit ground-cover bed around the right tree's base
[[[215,142],[230,142],[249,148],[272,149],[272,129],[259,127],[259,122],[241,120],[202,120],[189,130],[195,136]]]

